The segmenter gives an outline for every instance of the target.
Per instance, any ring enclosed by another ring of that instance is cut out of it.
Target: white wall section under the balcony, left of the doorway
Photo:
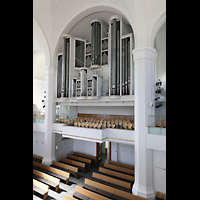
[[[73,151],[96,156],[96,142],[73,139]]]

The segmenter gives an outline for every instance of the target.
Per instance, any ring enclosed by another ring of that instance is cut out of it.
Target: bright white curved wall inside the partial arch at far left
[[[33,17],[33,43],[36,44],[36,49],[33,52],[33,58],[39,53],[44,53],[46,58],[46,66],[50,66],[50,51],[47,40],[40,28],[39,24]]]

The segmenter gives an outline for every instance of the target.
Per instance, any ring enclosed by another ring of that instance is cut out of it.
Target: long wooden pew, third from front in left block
[[[45,172],[47,172],[48,174],[50,174],[50,175],[52,175],[56,178],[59,178],[59,179],[66,181],[66,184],[69,183],[69,175],[70,174],[68,172],[65,172],[63,170],[56,169],[54,167],[50,167],[48,165],[44,165],[42,163],[38,163],[38,162],[35,162],[35,161],[33,161],[33,165],[45,170]]]

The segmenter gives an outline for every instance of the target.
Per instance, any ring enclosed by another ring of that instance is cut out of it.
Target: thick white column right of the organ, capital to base
[[[148,103],[154,100],[156,50],[151,47],[133,50],[135,87],[135,182],[132,193],[154,199],[152,150],[146,149],[148,116],[155,108]]]

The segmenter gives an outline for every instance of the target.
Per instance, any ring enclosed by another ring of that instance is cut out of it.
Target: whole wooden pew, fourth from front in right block
[[[131,190],[131,183],[125,182],[125,181],[121,181],[118,180],[116,178],[111,178],[109,176],[105,176],[99,173],[92,173],[92,179],[94,181],[118,188],[120,190],[124,190],[126,192],[130,192]]]

